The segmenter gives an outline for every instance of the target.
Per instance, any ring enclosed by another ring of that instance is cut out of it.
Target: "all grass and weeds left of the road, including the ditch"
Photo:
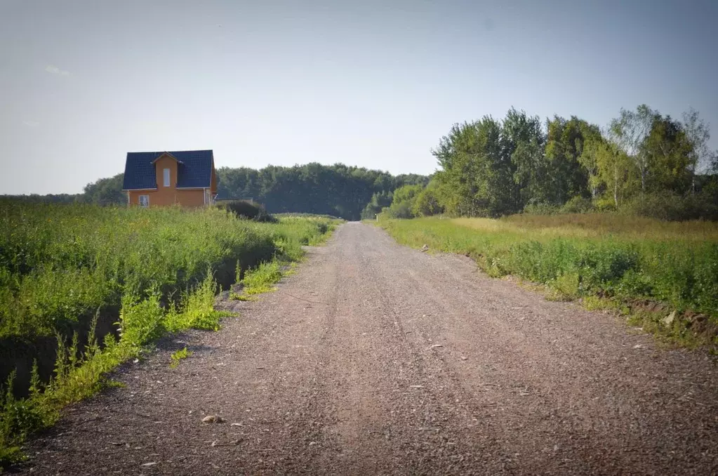
[[[338,223],[17,200],[0,208],[0,467],[164,333],[218,330],[227,315],[213,309],[218,289],[297,261]]]

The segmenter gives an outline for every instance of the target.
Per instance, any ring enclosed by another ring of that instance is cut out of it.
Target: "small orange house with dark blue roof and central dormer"
[[[211,205],[217,174],[211,150],[128,152],[122,185],[127,203],[141,207]]]

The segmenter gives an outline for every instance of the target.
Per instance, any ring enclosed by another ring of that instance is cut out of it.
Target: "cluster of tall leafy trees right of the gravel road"
[[[454,124],[432,149],[440,169],[429,185],[396,190],[385,210],[404,218],[596,209],[718,219],[718,153],[709,138],[693,109],[681,120],[645,105],[621,109],[602,129],[511,108],[503,120]]]

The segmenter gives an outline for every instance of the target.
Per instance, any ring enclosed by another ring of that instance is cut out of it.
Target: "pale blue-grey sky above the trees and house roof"
[[[0,0],[0,194],[77,193],[128,151],[216,167],[437,169],[453,123],[712,124],[715,0]]]

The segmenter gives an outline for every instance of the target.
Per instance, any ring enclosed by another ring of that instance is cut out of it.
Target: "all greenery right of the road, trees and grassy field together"
[[[718,151],[709,139],[692,109],[677,119],[640,105],[600,128],[511,108],[503,120],[452,126],[432,151],[439,170],[427,185],[375,194],[368,207],[401,243],[463,253],[491,276],[716,348]]]

